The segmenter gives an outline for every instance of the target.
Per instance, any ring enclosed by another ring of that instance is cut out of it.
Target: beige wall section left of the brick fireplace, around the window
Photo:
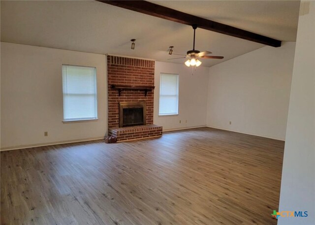
[[[1,149],[104,137],[105,62],[104,55],[1,42]],[[63,123],[62,64],[96,67],[98,120]]]

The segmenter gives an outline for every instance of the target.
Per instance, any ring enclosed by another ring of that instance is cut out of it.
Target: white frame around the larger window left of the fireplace
[[[64,97],[63,97],[63,123],[71,123],[71,122],[88,122],[93,120],[98,120],[98,100],[97,100],[97,68],[95,66],[82,66],[82,65],[72,65],[72,64],[62,64],[62,82],[63,82],[63,66],[72,66],[72,67],[85,67],[85,68],[93,68],[95,74],[95,117],[81,117],[81,118],[64,118]],[[62,84],[63,87],[63,84]],[[64,93],[63,93],[64,95]]]

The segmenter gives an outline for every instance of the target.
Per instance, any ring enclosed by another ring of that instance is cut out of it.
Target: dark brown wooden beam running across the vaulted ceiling
[[[188,13],[180,12],[145,0],[97,0],[97,1],[115,5],[121,8],[130,9],[136,12],[141,12],[151,16],[156,16],[181,24],[186,24],[190,26],[197,25],[198,28],[223,33],[226,35],[242,38],[264,45],[269,45],[273,47],[281,46],[280,40],[266,37],[244,29],[221,24],[212,20],[207,20],[201,17],[193,16]]]

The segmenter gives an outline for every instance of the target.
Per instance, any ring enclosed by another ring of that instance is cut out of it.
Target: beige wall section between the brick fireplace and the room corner
[[[156,61],[154,123],[163,126],[164,131],[205,126],[208,71],[208,67],[199,66],[192,71],[192,68],[185,66],[184,63],[178,64]],[[179,74],[178,115],[158,115],[160,73]]]

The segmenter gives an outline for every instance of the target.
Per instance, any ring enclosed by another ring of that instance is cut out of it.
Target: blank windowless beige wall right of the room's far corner
[[[294,50],[284,42],[210,67],[207,125],[284,140]]]

